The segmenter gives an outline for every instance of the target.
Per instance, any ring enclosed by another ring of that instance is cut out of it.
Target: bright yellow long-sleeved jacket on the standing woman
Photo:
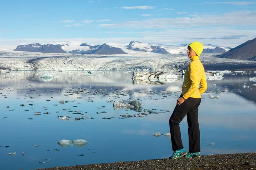
[[[184,74],[181,94],[184,99],[189,97],[198,99],[201,98],[201,94],[203,94],[207,89],[204,66],[198,56],[193,56],[190,60],[191,62],[189,63],[189,67],[186,69]],[[200,88],[199,84],[201,84]]]

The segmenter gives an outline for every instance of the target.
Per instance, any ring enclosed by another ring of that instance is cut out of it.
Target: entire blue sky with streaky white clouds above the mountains
[[[1,0],[0,42],[132,40],[234,47],[256,37],[256,0]]]

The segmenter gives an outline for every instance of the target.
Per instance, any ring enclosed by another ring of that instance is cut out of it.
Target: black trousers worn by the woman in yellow
[[[198,123],[198,106],[200,103],[201,98],[196,99],[189,97],[181,105],[176,105],[169,119],[173,151],[183,148],[180,134],[180,122],[187,115],[189,125],[189,152],[200,152],[200,130]]]

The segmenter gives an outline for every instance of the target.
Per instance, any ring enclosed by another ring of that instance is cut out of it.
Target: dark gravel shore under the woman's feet
[[[236,153],[185,159],[152,159],[145,161],[52,167],[43,170],[256,170],[256,153]],[[42,170],[42,169],[41,169]]]

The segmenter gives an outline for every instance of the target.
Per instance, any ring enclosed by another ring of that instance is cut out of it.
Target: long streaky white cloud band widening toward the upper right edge
[[[236,11],[225,14],[190,15],[177,18],[152,18],[143,21],[128,21],[100,24],[110,28],[188,28],[198,26],[255,26],[256,11]]]

